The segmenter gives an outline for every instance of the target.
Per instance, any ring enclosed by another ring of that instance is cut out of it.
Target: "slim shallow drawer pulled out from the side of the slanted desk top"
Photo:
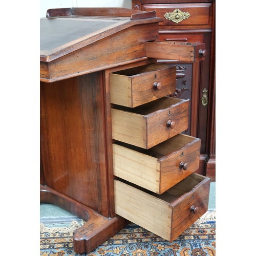
[[[205,44],[176,41],[145,42],[146,57],[197,62],[206,56]]]

